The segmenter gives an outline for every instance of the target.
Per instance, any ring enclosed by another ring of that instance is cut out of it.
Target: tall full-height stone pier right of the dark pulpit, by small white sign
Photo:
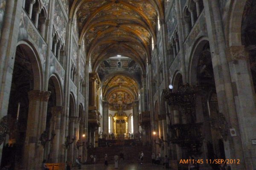
[[[239,127],[238,108],[236,108],[234,100],[236,88],[233,88],[234,84],[232,84],[230,78],[230,68],[226,57],[226,43],[219,1],[204,0],[204,7],[209,41],[212,42],[209,44],[212,51],[212,65],[218,97],[218,107],[219,111],[224,114],[228,123],[226,130],[228,130],[229,133],[227,134],[227,142],[224,142],[226,158],[240,159],[240,164],[230,164],[231,169],[250,169],[245,163],[246,154],[243,151],[242,142],[244,135],[241,133]],[[230,127],[236,130],[236,136],[231,136]]]

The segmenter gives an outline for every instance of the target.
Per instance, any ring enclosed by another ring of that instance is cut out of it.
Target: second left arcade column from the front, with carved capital
[[[52,107],[52,115],[55,117],[55,137],[52,146],[52,161],[54,163],[60,162],[60,149],[61,149],[61,115],[63,113],[63,106]]]

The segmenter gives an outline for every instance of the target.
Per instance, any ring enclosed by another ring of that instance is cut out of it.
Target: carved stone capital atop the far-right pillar
[[[229,48],[226,48],[226,56],[227,61],[237,61],[240,59],[248,60],[249,59],[249,53],[246,51],[244,45],[241,46],[231,46]]]

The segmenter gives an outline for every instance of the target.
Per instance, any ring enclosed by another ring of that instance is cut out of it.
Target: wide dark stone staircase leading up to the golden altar
[[[113,163],[115,155],[124,154],[125,163],[139,162],[139,152],[143,151],[143,163],[151,162],[152,147],[151,146],[111,146],[111,147],[95,147],[87,150],[87,163],[92,163],[90,155],[96,155],[96,164],[104,164],[105,153],[108,154],[108,163]]]

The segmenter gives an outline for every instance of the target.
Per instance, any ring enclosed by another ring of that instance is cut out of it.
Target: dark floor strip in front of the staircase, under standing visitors
[[[77,170],[78,168],[72,168],[72,170]],[[81,170],[163,170],[163,165],[152,165],[152,164],[125,164],[124,167],[118,169],[114,168],[114,164],[109,164],[105,166],[104,164],[89,164],[83,165]]]

